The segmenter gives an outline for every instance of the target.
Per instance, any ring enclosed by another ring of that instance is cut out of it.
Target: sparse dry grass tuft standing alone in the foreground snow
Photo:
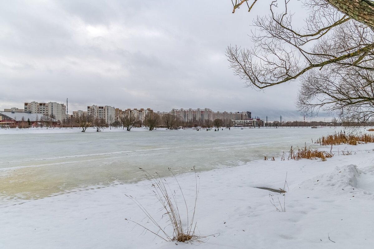
[[[162,217],[166,216],[168,218],[168,226],[171,226],[173,228],[173,232],[171,235],[171,232],[166,230],[163,225],[160,225],[159,222],[157,222],[153,216],[148,213],[148,211],[145,209],[143,205],[141,205],[140,202],[138,202],[137,199],[135,199],[132,196],[128,196],[141,210],[144,212],[144,214],[148,217],[149,221],[147,223],[151,223],[156,227],[156,230],[152,230],[151,228],[147,228],[144,225],[132,221],[130,219],[126,219],[128,221],[134,222],[137,225],[140,225],[142,228],[145,229],[145,231],[149,231],[153,233],[154,235],[160,237],[161,239],[165,241],[178,241],[178,242],[191,242],[192,241],[198,241],[202,242],[202,239],[205,239],[208,236],[198,236],[195,234],[196,230],[196,222],[194,222],[194,216],[195,216],[195,210],[196,210],[196,202],[197,202],[197,196],[199,194],[199,184],[197,181],[198,176],[196,175],[195,167],[193,167],[193,171],[195,173],[195,181],[196,181],[196,192],[195,192],[195,198],[194,198],[194,206],[190,210],[192,215],[189,216],[189,211],[187,207],[187,202],[184,197],[182,188],[175,177],[174,173],[171,171],[169,168],[169,171],[172,173],[172,176],[174,177],[175,181],[177,182],[178,188],[180,190],[180,194],[182,196],[182,200],[185,206],[186,210],[186,220],[182,221],[181,218],[181,209],[180,205],[178,206],[177,204],[177,196],[176,196],[176,191],[171,190],[171,187],[169,187],[168,182],[166,179],[162,178],[157,172],[156,176],[150,175],[147,171],[145,171],[142,168],[141,169],[144,173],[145,176],[147,177],[148,180],[151,181],[151,186],[153,188],[152,192],[154,193],[154,196],[156,196],[158,202],[162,205],[162,210],[164,210],[164,214]],[[184,227],[183,224],[187,224],[187,227]],[[209,236],[216,236],[217,234],[212,234]],[[219,234],[218,234],[219,235]]]

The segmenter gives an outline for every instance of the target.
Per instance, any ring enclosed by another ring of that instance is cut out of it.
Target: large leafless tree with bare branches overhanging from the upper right
[[[256,2],[235,1],[233,13],[244,3],[250,11]],[[298,24],[288,2],[269,2],[269,16],[257,17],[252,49],[227,48],[234,74],[257,89],[301,79],[297,106],[303,114],[322,108],[366,122],[374,115],[373,1],[305,0],[310,16],[300,29],[293,28]]]

